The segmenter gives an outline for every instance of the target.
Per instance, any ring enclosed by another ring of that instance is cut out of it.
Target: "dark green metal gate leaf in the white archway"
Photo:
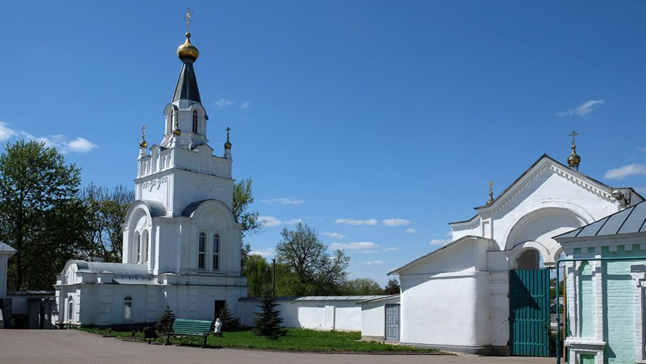
[[[509,326],[512,355],[549,356],[549,270],[510,270]]]

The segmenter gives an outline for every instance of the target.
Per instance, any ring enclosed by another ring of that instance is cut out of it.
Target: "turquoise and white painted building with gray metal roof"
[[[646,203],[554,239],[584,259],[564,263],[569,363],[646,363]]]

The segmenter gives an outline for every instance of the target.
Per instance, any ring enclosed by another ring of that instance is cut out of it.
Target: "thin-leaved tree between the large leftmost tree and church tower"
[[[79,191],[87,211],[89,229],[86,239],[91,242],[90,257],[102,257],[106,262],[121,262],[123,247],[123,217],[134,202],[134,191],[125,186],[113,189],[89,184]]]

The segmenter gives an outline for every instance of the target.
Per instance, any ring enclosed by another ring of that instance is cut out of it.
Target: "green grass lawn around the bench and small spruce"
[[[81,327],[79,330],[103,336],[116,336],[132,339],[130,331],[112,331],[98,328]],[[445,354],[435,349],[421,349],[403,345],[390,345],[374,341],[358,341],[360,332],[316,331],[302,328],[287,328],[287,335],[278,340],[255,336],[251,330],[223,332],[222,337],[209,336],[209,347],[247,348],[260,350],[283,350],[297,352],[401,352],[418,354]],[[143,341],[143,332],[136,332],[134,339]],[[156,341],[163,342],[165,337]],[[172,338],[171,343],[200,346],[200,337]]]

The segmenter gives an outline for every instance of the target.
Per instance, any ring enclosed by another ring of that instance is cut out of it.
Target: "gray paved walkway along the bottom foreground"
[[[554,363],[553,358],[315,354],[163,347],[99,337],[76,330],[0,330],[0,363],[11,364],[443,364]]]

